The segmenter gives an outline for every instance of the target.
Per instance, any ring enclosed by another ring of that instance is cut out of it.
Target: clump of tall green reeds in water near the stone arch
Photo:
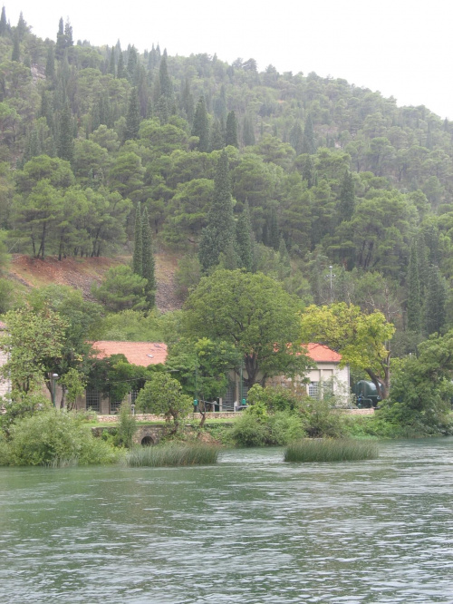
[[[158,468],[176,465],[211,465],[217,463],[218,447],[208,444],[163,444],[134,447],[126,456],[127,465]]]

